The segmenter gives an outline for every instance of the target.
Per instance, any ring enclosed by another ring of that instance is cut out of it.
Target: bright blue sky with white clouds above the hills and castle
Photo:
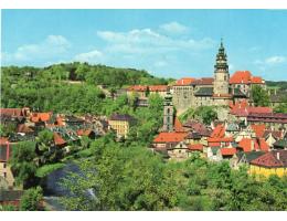
[[[1,63],[88,62],[160,77],[230,73],[287,81],[287,10],[2,10]]]

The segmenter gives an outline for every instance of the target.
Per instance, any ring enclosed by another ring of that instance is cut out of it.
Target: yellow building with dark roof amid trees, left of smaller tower
[[[109,129],[117,133],[117,137],[125,137],[129,133],[129,127],[134,124],[135,118],[129,115],[114,114],[108,120]]]

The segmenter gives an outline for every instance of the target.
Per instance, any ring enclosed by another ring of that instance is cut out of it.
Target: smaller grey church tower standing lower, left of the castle
[[[169,91],[163,102],[163,131],[173,131],[173,104]]]

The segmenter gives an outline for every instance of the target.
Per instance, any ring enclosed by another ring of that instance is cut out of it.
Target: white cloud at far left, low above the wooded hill
[[[49,35],[36,44],[24,44],[15,52],[7,53],[3,61],[28,62],[40,59],[51,59],[67,52],[70,42],[62,35]]]

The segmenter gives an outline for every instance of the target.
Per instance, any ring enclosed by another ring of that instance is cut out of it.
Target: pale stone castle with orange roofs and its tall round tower
[[[265,85],[247,71],[235,72],[230,76],[227,55],[223,42],[216,54],[213,77],[184,77],[172,86],[172,101],[180,115],[190,107],[228,106],[249,98],[252,85]]]

